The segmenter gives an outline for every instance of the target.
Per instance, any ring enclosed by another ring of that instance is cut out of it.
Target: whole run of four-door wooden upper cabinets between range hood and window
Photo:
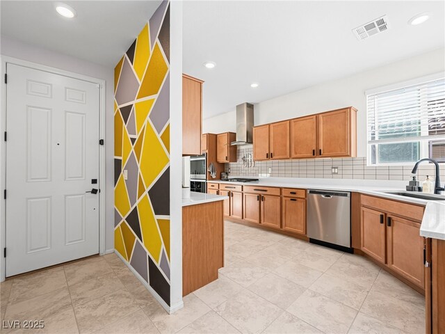
[[[350,106],[254,127],[254,160],[355,157],[356,125]]]

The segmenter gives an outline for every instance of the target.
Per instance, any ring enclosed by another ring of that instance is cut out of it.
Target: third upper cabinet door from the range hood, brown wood
[[[291,157],[315,157],[316,150],[316,116],[291,120]]]

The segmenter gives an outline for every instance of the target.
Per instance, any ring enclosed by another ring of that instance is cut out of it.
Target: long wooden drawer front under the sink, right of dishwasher
[[[410,218],[414,221],[422,221],[423,209],[422,206],[412,205],[409,203],[398,202],[397,200],[386,200],[383,198],[362,195],[362,205],[366,207],[373,207],[384,212],[390,212],[398,216]]]

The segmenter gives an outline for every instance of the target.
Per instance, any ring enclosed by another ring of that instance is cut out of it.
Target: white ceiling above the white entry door
[[[76,10],[74,19],[58,15],[55,2],[1,0],[1,34],[115,67],[161,0],[63,1]]]

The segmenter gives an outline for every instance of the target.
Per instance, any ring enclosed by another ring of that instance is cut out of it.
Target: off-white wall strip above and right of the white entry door
[[[60,70],[83,74],[88,77],[106,81],[106,116],[105,116],[105,159],[106,159],[106,193],[105,193],[105,250],[114,248],[114,125],[113,125],[113,99],[114,99],[114,69],[104,67],[65,54],[59,54],[33,45],[26,45],[18,40],[1,36],[2,56],[31,61],[40,65],[56,67]]]

